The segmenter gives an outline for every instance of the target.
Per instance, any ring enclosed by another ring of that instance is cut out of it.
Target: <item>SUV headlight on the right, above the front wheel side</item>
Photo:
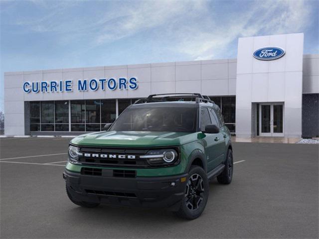
[[[177,152],[174,149],[158,149],[150,150],[146,155],[140,158],[147,159],[148,163],[153,166],[165,166],[173,164],[177,161]]]

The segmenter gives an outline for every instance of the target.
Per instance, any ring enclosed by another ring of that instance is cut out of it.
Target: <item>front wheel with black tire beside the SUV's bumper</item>
[[[178,217],[193,220],[198,218],[205,209],[209,185],[206,172],[199,166],[191,166],[181,200],[179,210],[175,212]]]

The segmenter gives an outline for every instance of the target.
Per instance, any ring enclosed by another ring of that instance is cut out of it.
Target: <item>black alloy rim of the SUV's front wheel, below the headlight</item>
[[[195,173],[191,175],[186,184],[185,204],[190,211],[198,209],[204,199],[204,181]]]

